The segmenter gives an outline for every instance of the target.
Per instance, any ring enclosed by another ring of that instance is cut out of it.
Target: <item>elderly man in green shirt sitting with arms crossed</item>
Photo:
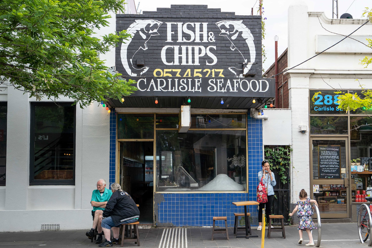
[[[98,232],[98,238],[96,240],[96,244],[102,243],[102,227],[101,223],[99,221],[99,216],[102,215],[103,210],[105,210],[106,203],[110,199],[112,195],[112,191],[109,189],[106,189],[106,181],[103,179],[98,180],[97,189],[93,190],[92,193],[92,200],[90,200],[90,204],[92,204],[93,210],[92,210],[92,216],[93,216],[93,226],[92,229],[90,229],[88,232],[86,232],[86,235],[89,239],[93,239],[94,231],[97,227]]]

